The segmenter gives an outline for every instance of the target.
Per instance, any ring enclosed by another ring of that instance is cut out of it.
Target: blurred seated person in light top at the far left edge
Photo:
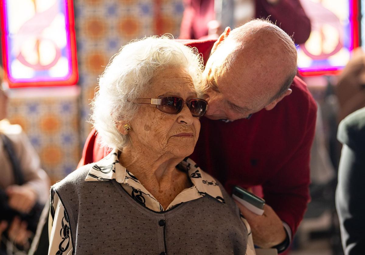
[[[2,71],[2,70],[1,70]],[[0,254],[27,251],[50,181],[19,125],[6,118],[7,92],[0,88]],[[17,253],[19,254],[19,253]],[[22,253],[20,253],[22,254]]]

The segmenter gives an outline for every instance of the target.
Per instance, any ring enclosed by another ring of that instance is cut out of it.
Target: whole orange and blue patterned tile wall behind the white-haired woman
[[[165,33],[178,36],[182,2],[74,0],[80,98],[12,98],[9,107],[10,121],[23,126],[53,181],[74,170],[80,159],[91,128],[86,122],[89,102],[111,56],[132,39]]]

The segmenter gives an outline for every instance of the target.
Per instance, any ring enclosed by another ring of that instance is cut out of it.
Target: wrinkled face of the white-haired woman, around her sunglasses
[[[150,88],[145,98],[177,95],[189,100],[197,97],[190,75],[181,68],[158,72]],[[178,114],[167,114],[155,105],[142,104],[130,126],[133,129],[129,133],[132,146],[172,157],[187,157],[193,153],[200,131],[199,118],[192,116],[186,104]]]

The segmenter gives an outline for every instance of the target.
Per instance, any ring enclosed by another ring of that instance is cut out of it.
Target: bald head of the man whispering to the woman
[[[296,59],[290,36],[268,21],[253,20],[224,37],[209,58],[204,74],[208,85],[216,86],[222,94],[223,101],[242,108],[242,112],[258,111],[286,93],[296,74]],[[216,85],[209,83],[212,79]],[[214,103],[210,102],[210,109],[215,109]]]

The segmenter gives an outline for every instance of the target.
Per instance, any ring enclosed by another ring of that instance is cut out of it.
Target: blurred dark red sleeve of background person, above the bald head
[[[299,0],[280,0],[273,5],[266,0],[256,0],[256,17],[276,22],[297,44],[305,43],[311,33],[311,21]]]

